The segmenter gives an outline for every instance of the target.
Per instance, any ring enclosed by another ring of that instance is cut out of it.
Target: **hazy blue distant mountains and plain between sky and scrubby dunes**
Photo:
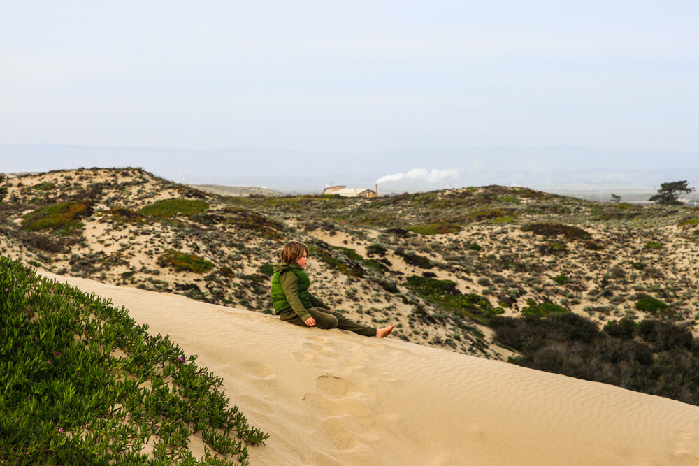
[[[185,150],[150,147],[0,145],[3,173],[138,166],[183,183],[322,192],[326,186],[384,193],[502,184],[656,189],[661,182],[699,184],[699,151],[603,151],[586,147],[435,147],[385,152],[308,152],[275,148]],[[437,172],[408,177],[411,170]],[[440,175],[441,174],[441,175]]]

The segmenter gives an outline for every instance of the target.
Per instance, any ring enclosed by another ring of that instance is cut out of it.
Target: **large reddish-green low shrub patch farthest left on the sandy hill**
[[[83,217],[92,214],[92,202],[78,201],[52,204],[24,215],[22,226],[29,231],[48,230],[56,235],[69,235],[82,228]]]

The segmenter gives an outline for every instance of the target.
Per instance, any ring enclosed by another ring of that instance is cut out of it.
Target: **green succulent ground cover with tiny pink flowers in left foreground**
[[[3,465],[245,465],[267,438],[195,355],[123,308],[6,256],[0,307]]]

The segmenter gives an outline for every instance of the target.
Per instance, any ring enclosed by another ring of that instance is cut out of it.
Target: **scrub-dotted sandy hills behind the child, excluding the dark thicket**
[[[373,199],[222,197],[138,168],[24,175],[3,187],[0,252],[35,268],[270,313],[271,265],[284,242],[301,240],[311,249],[312,291],[350,318],[396,323],[393,336],[408,342],[544,370],[565,373],[556,358],[597,356],[535,357],[528,351],[560,342],[526,347],[503,329],[554,325],[570,313],[618,337],[610,323],[621,321],[614,325],[631,328],[631,344],[651,344],[638,357],[657,361],[668,354],[652,347],[644,322],[691,338],[699,319],[696,208],[500,186]],[[691,359],[696,347],[683,348]]]

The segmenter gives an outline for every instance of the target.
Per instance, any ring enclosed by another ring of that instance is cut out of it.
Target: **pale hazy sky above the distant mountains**
[[[699,150],[698,83],[696,0],[0,1],[0,144]]]

